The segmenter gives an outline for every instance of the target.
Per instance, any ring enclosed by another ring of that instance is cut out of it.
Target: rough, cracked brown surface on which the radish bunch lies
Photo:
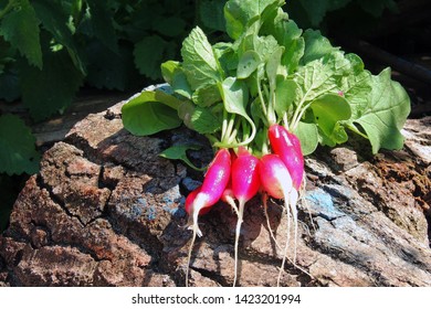
[[[190,231],[185,195],[201,174],[158,153],[204,141],[186,129],[135,137],[119,103],[80,121],[48,150],[0,236],[0,286],[183,286]],[[431,118],[408,120],[406,147],[371,157],[354,141],[307,158],[296,266],[283,286],[431,286]],[[275,286],[286,237],[270,203],[248,205],[240,242],[241,286]],[[201,220],[190,285],[233,280],[235,217],[224,204]],[[291,239],[293,233],[291,235]],[[288,257],[293,258],[293,251]]]

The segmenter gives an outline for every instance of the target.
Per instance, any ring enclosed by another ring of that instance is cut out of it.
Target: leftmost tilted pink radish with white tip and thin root
[[[191,252],[195,245],[196,235],[202,236],[202,232],[198,226],[198,216],[202,210],[209,210],[209,207],[220,200],[229,183],[230,173],[231,154],[228,149],[222,148],[217,151],[214,159],[210,163],[200,190],[197,192],[196,196],[190,198],[189,205],[186,206],[186,211],[189,214],[189,228],[193,231],[187,259],[186,286],[188,286]]]

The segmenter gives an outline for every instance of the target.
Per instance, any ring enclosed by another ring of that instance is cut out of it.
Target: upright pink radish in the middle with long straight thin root
[[[238,244],[240,241],[241,224],[243,222],[244,205],[257,193],[260,187],[259,159],[250,154],[245,148],[240,149],[238,158],[232,164],[232,192],[239,202],[236,210],[238,221],[234,244],[235,266],[233,286],[235,286],[238,277]]]

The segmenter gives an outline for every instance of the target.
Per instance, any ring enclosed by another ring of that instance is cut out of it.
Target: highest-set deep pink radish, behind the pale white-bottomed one
[[[286,166],[293,187],[299,190],[304,178],[304,156],[299,139],[280,125],[272,125],[267,136],[273,152],[278,154]]]

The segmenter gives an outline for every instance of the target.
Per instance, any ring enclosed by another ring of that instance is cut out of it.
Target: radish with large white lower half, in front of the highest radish
[[[276,140],[278,141],[278,140]],[[296,263],[296,238],[297,238],[297,210],[298,199],[297,190],[293,188],[293,182],[287,167],[282,159],[274,153],[265,154],[261,158],[259,164],[261,183],[264,191],[274,199],[284,199],[284,205],[287,213],[286,244],[284,247],[283,262],[278,273],[277,286],[280,285],[281,275],[287,256],[287,247],[291,235],[291,214],[294,223],[295,249],[293,264]]]

